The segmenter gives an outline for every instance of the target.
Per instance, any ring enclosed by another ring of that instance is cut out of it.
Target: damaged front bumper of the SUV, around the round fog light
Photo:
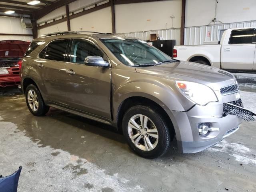
[[[223,116],[223,104],[212,102],[206,106],[195,105],[187,112],[166,110],[174,125],[178,150],[196,153],[213,146],[226,136],[236,132],[242,119],[235,115]],[[210,131],[205,137],[198,133],[198,124],[210,123],[219,131]]]

